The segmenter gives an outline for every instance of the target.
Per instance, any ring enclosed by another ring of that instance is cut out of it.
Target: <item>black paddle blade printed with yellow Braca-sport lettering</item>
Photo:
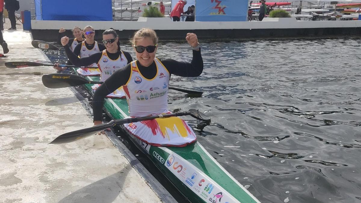
[[[42,81],[45,87],[48,88],[62,88],[84,85],[89,81],[79,75],[66,73],[53,73],[43,75]]]

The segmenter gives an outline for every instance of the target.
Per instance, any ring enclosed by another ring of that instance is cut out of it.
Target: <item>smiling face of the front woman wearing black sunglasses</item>
[[[155,44],[150,37],[145,37],[145,38],[135,42],[135,46],[147,47],[147,46],[154,46],[154,45]],[[155,51],[153,53],[148,53],[147,50],[144,50],[143,53],[138,53],[135,50],[135,48],[134,48],[134,51],[135,51],[135,55],[136,55],[136,58],[138,59],[139,63],[142,66],[148,67],[154,61],[154,58],[155,58],[156,52],[157,52],[157,48],[155,49]]]

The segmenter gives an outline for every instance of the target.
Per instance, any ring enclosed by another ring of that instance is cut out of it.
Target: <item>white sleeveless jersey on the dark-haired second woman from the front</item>
[[[121,51],[121,56],[116,60],[112,60],[108,57],[106,49],[103,50],[103,53],[100,57],[100,60],[97,63],[97,66],[101,72],[100,81],[105,81],[117,70],[123,68],[128,64],[128,60],[125,57],[123,51]]]

